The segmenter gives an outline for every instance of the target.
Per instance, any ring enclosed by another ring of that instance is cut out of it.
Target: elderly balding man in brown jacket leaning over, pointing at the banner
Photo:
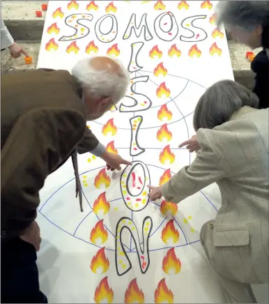
[[[72,69],[31,70],[1,79],[1,303],[47,303],[39,289],[36,209],[45,178],[70,156],[82,193],[78,153],[91,152],[108,169],[130,165],[106,151],[86,121],[98,119],[125,96],[121,63],[105,56]]]

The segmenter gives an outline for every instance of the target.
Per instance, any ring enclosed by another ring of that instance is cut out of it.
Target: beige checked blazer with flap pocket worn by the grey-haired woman
[[[178,203],[217,183],[211,252],[242,282],[268,282],[268,113],[243,107],[221,126],[199,129],[197,158],[162,185],[164,198]]]

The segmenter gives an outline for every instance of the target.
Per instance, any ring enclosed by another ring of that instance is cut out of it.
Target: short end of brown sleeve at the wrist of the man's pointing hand
[[[84,137],[77,146],[77,152],[79,154],[90,152],[91,154],[99,157],[103,153],[105,153],[105,151],[106,151],[105,146],[102,145],[95,137],[95,135],[93,135],[93,132],[91,132],[91,130],[89,130],[88,127],[86,127],[86,130],[84,132]]]

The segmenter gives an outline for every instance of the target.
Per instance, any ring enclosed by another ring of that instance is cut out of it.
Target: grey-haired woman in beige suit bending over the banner
[[[268,109],[231,80],[201,96],[194,129],[201,149],[151,200],[179,203],[216,182],[222,206],[201,228],[201,244],[219,274],[226,303],[256,303],[250,284],[268,282]]]

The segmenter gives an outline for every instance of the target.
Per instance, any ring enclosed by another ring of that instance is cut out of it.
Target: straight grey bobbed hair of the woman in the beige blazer
[[[216,82],[206,90],[197,103],[193,117],[194,130],[220,126],[245,105],[257,108],[259,98],[245,86],[232,80]]]

